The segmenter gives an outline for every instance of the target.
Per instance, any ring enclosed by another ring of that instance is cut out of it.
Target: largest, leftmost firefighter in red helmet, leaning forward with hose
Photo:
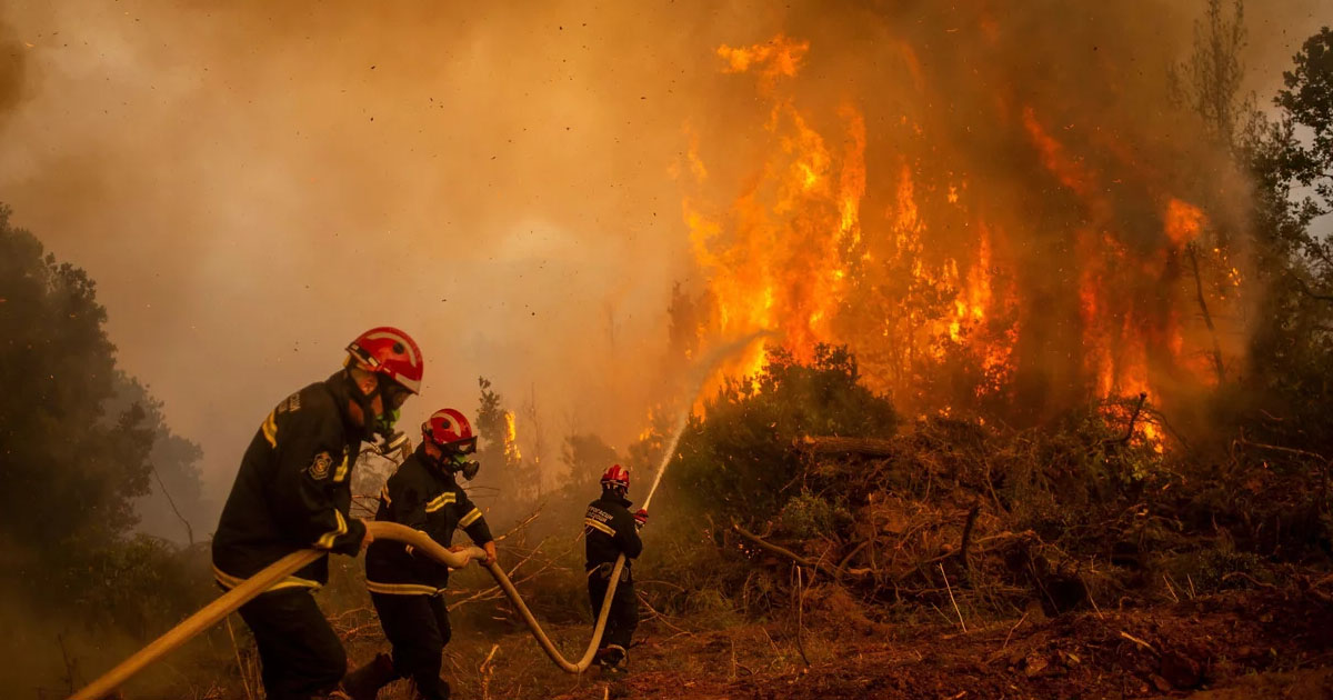
[[[385,441],[421,387],[421,351],[397,328],[372,328],[347,347],[343,369],[288,396],[241,457],[213,536],[213,577],[231,589],[299,549],[356,556],[371,543],[349,517],[352,467],[363,441]],[[269,700],[321,697],[347,655],[312,592],[328,580],[321,556],[241,605],[255,633]]]

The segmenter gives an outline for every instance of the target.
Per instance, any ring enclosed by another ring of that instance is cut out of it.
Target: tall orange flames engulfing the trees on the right
[[[766,148],[730,200],[717,200],[713,159],[693,136],[674,171],[693,176],[682,217],[708,308],[701,339],[772,329],[797,360],[820,343],[846,344],[872,388],[929,412],[1012,409],[1024,392],[1069,403],[1208,384],[1200,357],[1212,327],[1190,304],[1236,296],[1240,273],[1225,247],[1208,248],[1204,263],[1226,289],[1205,295],[1200,263],[1182,256],[1198,252],[1208,216],[1150,193],[1156,176],[1124,189],[1124,173],[1102,169],[1138,167],[1132,147],[1097,129],[1066,136],[1076,125],[1048,128],[1037,107],[1020,105],[1006,137],[1028,149],[1029,187],[1044,189],[1014,201],[977,195],[996,185],[938,156],[948,149],[928,123],[904,113],[872,129],[856,99],[800,100],[793,85],[810,51],[784,35],[717,49],[722,73],[753,76]],[[905,85],[928,89],[914,53],[901,52]],[[1133,219],[1144,207],[1126,208],[1118,192],[1144,192],[1160,219],[1145,229]],[[1029,200],[1058,217],[1033,219]],[[725,373],[757,372],[764,353]],[[1136,432],[1161,444],[1152,423]]]

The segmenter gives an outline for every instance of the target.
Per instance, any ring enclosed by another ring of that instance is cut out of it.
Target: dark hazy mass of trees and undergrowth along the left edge
[[[136,499],[153,464],[196,479],[197,493],[197,448],[164,443],[161,404],[116,369],[93,280],[9,213],[0,205],[0,577],[31,601],[140,633],[189,593],[180,551],[129,539]]]

